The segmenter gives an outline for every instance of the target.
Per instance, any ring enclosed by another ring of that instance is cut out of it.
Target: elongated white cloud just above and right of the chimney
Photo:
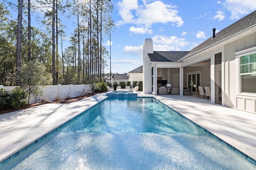
[[[165,35],[155,35],[152,37],[154,43],[158,43],[161,45],[170,45],[173,47],[184,47],[188,45],[188,42],[185,38],[178,38],[176,36],[167,37]]]

